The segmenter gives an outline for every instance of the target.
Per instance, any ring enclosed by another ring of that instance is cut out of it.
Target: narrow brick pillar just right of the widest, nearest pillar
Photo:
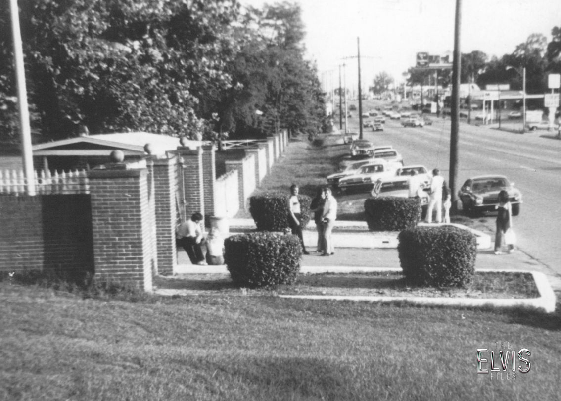
[[[158,254],[158,274],[173,274],[177,265],[175,227],[176,206],[176,163],[177,158],[153,159],[154,201],[156,217],[156,248]]]

